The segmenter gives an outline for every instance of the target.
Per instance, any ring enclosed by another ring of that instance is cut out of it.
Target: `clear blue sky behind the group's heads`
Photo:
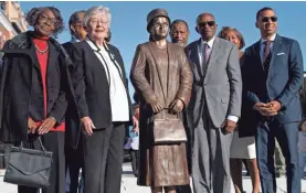
[[[299,42],[304,61],[306,60],[306,2],[276,2],[276,1],[22,1],[23,12],[34,7],[53,6],[57,8],[65,22],[65,31],[59,35],[59,42],[70,41],[67,26],[70,15],[77,10],[86,10],[94,6],[109,8],[112,13],[112,41],[123,55],[127,74],[129,75],[131,61],[136,46],[147,42],[149,34],[146,30],[147,14],[156,8],[163,8],[168,11],[171,21],[176,19],[186,20],[189,24],[189,43],[200,39],[196,32],[196,19],[202,12],[210,12],[215,17],[218,32],[222,26],[236,28],[244,36],[246,46],[260,40],[260,31],[255,28],[256,12],[263,7],[271,7],[278,18],[277,33],[295,39]],[[169,39],[170,40],[170,39]],[[304,63],[304,68],[306,71]],[[133,86],[129,84],[129,93],[133,94]],[[133,95],[131,95],[133,96]]]

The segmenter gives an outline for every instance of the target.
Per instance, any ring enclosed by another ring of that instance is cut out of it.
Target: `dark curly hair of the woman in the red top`
[[[30,26],[34,26],[39,21],[39,17],[44,10],[52,11],[52,13],[56,19],[56,24],[54,25],[54,31],[53,31],[53,36],[56,39],[57,34],[60,34],[64,30],[64,20],[59,9],[54,7],[33,8],[27,13],[25,20]]]

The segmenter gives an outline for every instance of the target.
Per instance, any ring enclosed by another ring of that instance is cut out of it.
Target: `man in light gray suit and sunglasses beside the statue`
[[[241,114],[242,82],[236,47],[214,36],[217,26],[213,14],[200,14],[196,30],[201,39],[186,49],[193,72],[188,121],[194,129],[194,193],[229,193],[232,183],[230,147]]]

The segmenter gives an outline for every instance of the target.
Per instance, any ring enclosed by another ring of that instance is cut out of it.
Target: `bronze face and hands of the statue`
[[[165,17],[157,18],[150,29],[150,34],[152,36],[154,42],[156,43],[156,45],[158,47],[163,49],[167,46],[168,33],[169,33],[169,21]],[[163,107],[161,106],[161,104],[159,101],[152,101],[152,103],[150,103],[150,106],[155,114],[158,114],[163,109]],[[179,98],[176,98],[169,105],[169,111],[172,114],[179,114],[182,111],[183,106],[184,106],[183,101]]]

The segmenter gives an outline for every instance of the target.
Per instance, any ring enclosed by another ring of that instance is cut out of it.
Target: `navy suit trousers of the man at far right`
[[[261,122],[256,132],[256,153],[263,193],[275,193],[274,150],[275,138],[278,141],[286,161],[287,192],[300,193],[298,163],[298,122],[279,124],[273,119]]]

